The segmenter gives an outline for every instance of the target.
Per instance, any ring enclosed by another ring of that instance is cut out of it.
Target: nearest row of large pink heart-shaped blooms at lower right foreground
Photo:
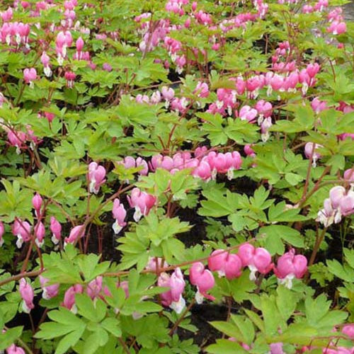
[[[156,270],[156,259],[151,258],[147,269]],[[204,297],[210,300],[215,298],[207,292],[215,285],[215,279],[212,271],[216,271],[219,277],[226,276],[228,280],[238,278],[244,267],[249,267],[251,270],[250,280],[256,280],[256,272],[267,274],[274,269],[270,253],[262,247],[254,247],[251,244],[242,244],[239,246],[239,253],[229,253],[228,251],[219,249],[213,251],[208,260],[208,268],[205,268],[201,262],[195,262],[189,269],[190,284],[197,287],[195,299],[198,304],[202,303]],[[167,264],[160,265],[164,268]],[[291,288],[293,278],[302,278],[307,271],[307,258],[302,255],[296,255],[292,249],[284,253],[278,259],[278,266],[274,269],[275,275],[279,282],[286,287]],[[158,279],[158,285],[161,287],[170,287],[168,292],[164,292],[161,297],[164,306],[175,309],[176,312],[181,312],[185,301],[181,297],[185,282],[179,268],[170,276],[167,273],[161,273]]]

